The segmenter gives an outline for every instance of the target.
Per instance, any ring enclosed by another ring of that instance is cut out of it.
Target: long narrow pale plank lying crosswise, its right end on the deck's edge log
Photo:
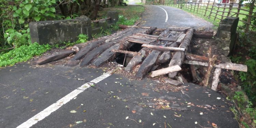
[[[142,47],[156,49],[158,51],[185,51],[185,48],[181,47],[164,47],[159,45],[143,44]]]

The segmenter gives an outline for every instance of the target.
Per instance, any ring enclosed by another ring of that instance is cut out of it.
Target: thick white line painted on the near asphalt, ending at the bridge
[[[98,83],[102,80],[104,80],[106,77],[110,76],[112,71],[106,72],[105,74],[97,77],[96,79],[83,84],[81,87],[73,90],[71,93],[66,95],[65,97],[61,98],[57,102],[53,103],[52,105],[48,106],[46,109],[38,113],[37,115],[34,115],[32,118],[28,119],[26,122],[19,125],[17,128],[29,128],[32,125],[38,123],[40,120],[44,119],[48,115],[50,115],[52,112],[59,109],[62,105],[66,104],[73,98],[75,98],[78,94],[82,93],[85,89],[89,88],[91,83]]]

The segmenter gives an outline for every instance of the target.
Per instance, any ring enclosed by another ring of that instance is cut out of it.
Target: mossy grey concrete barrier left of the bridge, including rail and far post
[[[91,26],[90,18],[86,16],[68,20],[30,22],[31,42],[38,42],[39,44],[58,44],[63,41],[74,42],[81,33],[87,34],[91,38],[92,33],[100,33],[118,21],[118,13],[115,11],[109,11],[107,16],[110,19],[97,21],[93,26]]]

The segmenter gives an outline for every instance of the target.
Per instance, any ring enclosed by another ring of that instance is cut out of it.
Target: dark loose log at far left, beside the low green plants
[[[51,62],[51,61],[55,61],[55,60],[58,60],[58,59],[68,57],[70,54],[73,54],[73,53],[75,53],[75,51],[70,50],[70,49],[65,50],[65,51],[59,51],[59,52],[56,52],[53,55],[47,55],[43,58],[40,58],[39,60],[37,60],[36,63],[38,65],[42,65],[44,63],[48,63],[48,62]]]

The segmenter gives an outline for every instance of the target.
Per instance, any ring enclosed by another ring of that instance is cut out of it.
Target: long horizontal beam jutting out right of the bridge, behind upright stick
[[[185,60],[183,63],[190,64],[190,65],[208,66],[207,62],[200,62],[200,61],[193,61],[193,60]],[[246,65],[240,65],[237,63],[219,63],[218,65],[215,65],[214,68],[247,72]]]

